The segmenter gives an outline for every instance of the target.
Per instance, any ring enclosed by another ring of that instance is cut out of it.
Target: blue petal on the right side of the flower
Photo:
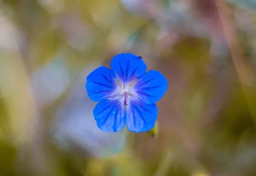
[[[139,77],[134,85],[139,99],[147,104],[154,104],[166,93],[167,79],[159,71],[148,71]]]

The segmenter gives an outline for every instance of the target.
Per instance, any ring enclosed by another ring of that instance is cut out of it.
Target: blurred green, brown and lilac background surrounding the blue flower
[[[96,126],[86,77],[142,56],[155,137]],[[255,0],[0,0],[0,176],[256,176]]]

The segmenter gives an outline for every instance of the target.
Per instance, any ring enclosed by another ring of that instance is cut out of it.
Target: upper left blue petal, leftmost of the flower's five
[[[99,67],[86,78],[86,90],[92,101],[100,102],[111,97],[116,88],[116,78],[107,67]]]

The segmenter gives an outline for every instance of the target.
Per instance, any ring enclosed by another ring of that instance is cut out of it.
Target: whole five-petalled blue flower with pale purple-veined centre
[[[118,54],[111,60],[111,69],[99,67],[87,77],[86,90],[102,131],[120,131],[125,123],[129,131],[151,130],[157,120],[155,103],[165,94],[168,82],[159,71],[148,71],[134,54]]]

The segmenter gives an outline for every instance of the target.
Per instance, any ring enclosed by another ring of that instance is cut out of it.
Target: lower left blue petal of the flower
[[[125,125],[125,110],[117,99],[105,99],[93,110],[99,129],[106,132],[120,131]]]

